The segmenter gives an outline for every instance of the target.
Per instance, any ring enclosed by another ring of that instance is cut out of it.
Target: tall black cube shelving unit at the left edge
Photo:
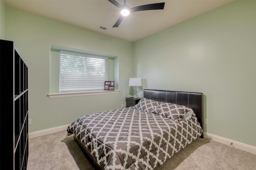
[[[0,40],[0,169],[26,170],[28,66],[12,41]]]

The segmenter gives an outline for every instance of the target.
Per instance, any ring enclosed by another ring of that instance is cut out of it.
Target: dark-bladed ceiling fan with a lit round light
[[[132,12],[138,12],[138,11],[146,11],[146,10],[163,10],[164,9],[164,2],[156,3],[156,4],[146,4],[141,6],[135,6],[133,8],[130,8],[128,5],[126,5],[126,0],[124,0],[124,4],[121,5],[116,0],[108,0],[115,6],[121,9],[121,16],[118,18],[116,23],[113,27],[118,27],[122,20],[124,19],[124,16],[128,16]]]

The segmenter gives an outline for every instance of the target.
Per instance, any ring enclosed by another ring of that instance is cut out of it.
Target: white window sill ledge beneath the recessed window
[[[76,96],[90,96],[99,94],[116,94],[120,90],[110,90],[110,91],[92,91],[92,92],[59,92],[59,93],[49,93],[47,96],[52,98],[66,98],[66,97],[76,97]]]

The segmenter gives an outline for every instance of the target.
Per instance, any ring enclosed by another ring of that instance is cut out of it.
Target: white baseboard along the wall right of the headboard
[[[233,146],[237,149],[241,149],[241,150],[244,150],[246,152],[256,154],[256,147],[251,146],[251,145],[247,145],[247,144],[244,144],[244,143],[241,143],[241,142],[233,141],[231,139],[227,139],[227,138],[224,138],[224,137],[213,135],[213,134],[207,133],[207,132],[204,132],[204,137],[208,138],[208,139],[211,139],[213,141],[219,142],[219,143],[223,143],[225,145],[230,145],[232,143]]]

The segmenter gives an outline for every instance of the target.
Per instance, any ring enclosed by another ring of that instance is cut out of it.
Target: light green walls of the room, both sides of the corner
[[[134,43],[8,6],[5,12],[5,38],[29,67],[30,132],[120,108],[136,73],[144,88],[203,92],[206,131],[256,146],[255,1],[231,2]],[[51,45],[118,56],[120,93],[49,99]]]

